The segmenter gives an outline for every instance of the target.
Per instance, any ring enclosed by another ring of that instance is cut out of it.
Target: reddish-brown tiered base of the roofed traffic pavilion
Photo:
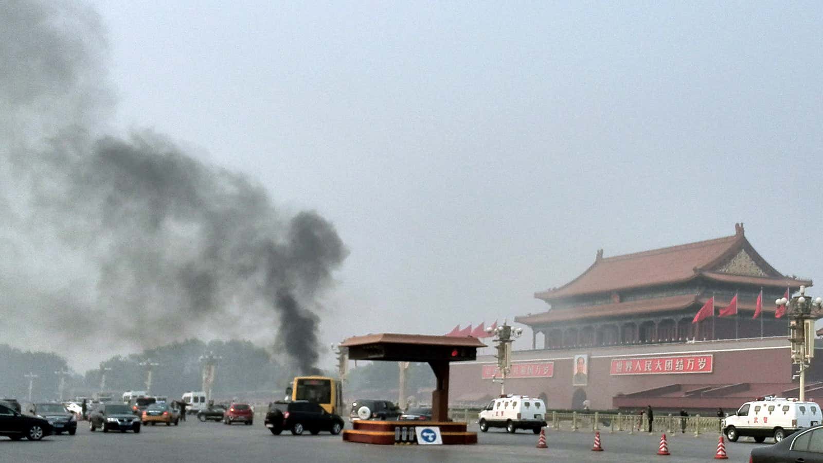
[[[343,440],[364,444],[416,444],[416,426],[437,426],[444,445],[477,443],[477,433],[466,431],[467,423],[454,421],[355,421],[353,429],[343,430]],[[405,431],[405,433],[403,432]]]

